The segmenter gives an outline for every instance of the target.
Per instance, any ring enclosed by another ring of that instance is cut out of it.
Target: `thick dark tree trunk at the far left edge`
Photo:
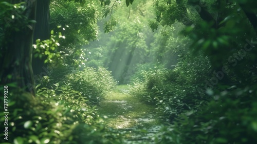
[[[20,2],[27,4],[26,10],[22,14],[29,20],[35,19],[36,1],[11,1],[12,4]],[[13,27],[6,29],[0,78],[2,84],[8,85],[8,83],[16,82],[20,89],[25,89],[34,95],[35,86],[31,67],[33,32],[34,24],[32,23],[19,27],[18,31]],[[11,75],[11,78],[8,78],[8,75]]]

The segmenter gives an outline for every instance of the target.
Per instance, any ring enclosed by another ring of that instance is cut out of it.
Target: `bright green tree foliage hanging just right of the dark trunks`
[[[88,44],[89,40],[97,39],[97,5],[89,1],[83,6],[63,0],[54,1],[51,3],[50,15],[51,28],[65,36],[65,39],[59,42],[59,51],[65,54],[64,63],[82,67],[87,60],[82,46]]]

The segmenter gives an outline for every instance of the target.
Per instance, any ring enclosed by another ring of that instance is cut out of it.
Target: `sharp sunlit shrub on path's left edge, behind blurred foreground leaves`
[[[47,101],[57,101],[58,105],[65,108],[63,115],[66,117],[65,125],[72,127],[71,135],[77,143],[121,143],[122,140],[112,130],[103,124],[103,118],[99,117],[95,107],[88,105],[88,98],[72,85],[54,85],[56,90],[40,89],[39,94],[48,96]],[[58,92],[59,94],[55,94]],[[69,143],[69,141],[65,141]]]

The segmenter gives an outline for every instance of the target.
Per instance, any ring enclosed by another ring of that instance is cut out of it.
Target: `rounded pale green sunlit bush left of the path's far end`
[[[111,72],[103,67],[86,67],[83,71],[69,74],[67,81],[71,83],[72,89],[81,92],[93,104],[98,103],[116,85]]]

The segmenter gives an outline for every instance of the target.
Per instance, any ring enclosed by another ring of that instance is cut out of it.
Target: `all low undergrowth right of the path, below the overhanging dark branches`
[[[230,80],[208,88],[206,81],[221,74],[210,73],[208,57],[184,55],[174,70],[142,71],[144,79],[134,80],[130,94],[156,105],[170,122],[155,143],[254,143],[257,85],[254,75],[245,77],[247,68],[243,76],[228,73]],[[248,80],[245,85],[242,78]]]

